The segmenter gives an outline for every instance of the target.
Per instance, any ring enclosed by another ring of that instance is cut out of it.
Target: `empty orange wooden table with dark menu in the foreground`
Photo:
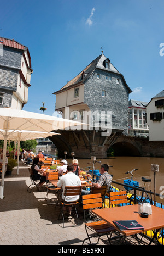
[[[154,238],[157,241],[157,232],[159,232],[159,230],[164,227],[164,209],[156,207],[154,205],[151,205],[151,209],[152,214],[149,215],[148,218],[142,218],[140,214],[138,214],[137,204],[121,207],[95,209],[92,210],[92,212],[99,216],[99,218],[101,218],[102,220],[108,222],[120,233],[122,233],[124,235],[124,238],[126,236],[131,236],[137,233],[153,230],[154,235],[149,243],[151,244]],[[120,230],[114,225],[114,220],[136,220],[140,225],[144,227],[144,230]]]

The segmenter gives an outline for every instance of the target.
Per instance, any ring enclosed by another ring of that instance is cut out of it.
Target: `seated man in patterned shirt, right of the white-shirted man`
[[[103,185],[107,185],[108,188],[110,187],[110,183],[112,182],[112,176],[108,174],[109,166],[107,164],[101,165],[101,176],[99,177],[96,183],[92,183],[91,190],[82,190],[81,194],[91,194],[92,187],[101,188]]]

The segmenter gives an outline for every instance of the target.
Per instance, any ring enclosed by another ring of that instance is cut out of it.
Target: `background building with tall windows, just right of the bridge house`
[[[147,102],[128,102],[128,136],[149,137],[147,124]]]

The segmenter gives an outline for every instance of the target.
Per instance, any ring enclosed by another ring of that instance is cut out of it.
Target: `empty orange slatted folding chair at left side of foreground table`
[[[87,194],[82,196],[83,199],[83,209],[84,213],[86,209],[93,209],[93,208],[99,208],[102,207],[102,197],[101,193],[99,194]],[[94,222],[86,222],[85,220],[85,230],[87,233],[87,238],[83,240],[84,241],[89,240],[91,244],[91,238],[92,237],[98,237],[97,243],[99,242],[99,238],[101,236],[106,235],[110,244],[110,238],[108,237],[110,233],[110,237],[112,235],[112,232],[115,231],[115,229],[110,226],[106,221],[104,220],[99,220],[99,221],[94,221]],[[88,230],[92,231],[93,233],[89,234]],[[96,244],[97,244],[96,243]]]

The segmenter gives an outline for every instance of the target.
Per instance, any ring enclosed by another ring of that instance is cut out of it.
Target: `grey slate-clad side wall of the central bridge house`
[[[99,79],[97,74],[100,75]],[[119,79],[119,84],[116,79]],[[128,135],[128,89],[122,76],[96,69],[84,88],[84,103],[89,105],[91,112],[112,111],[112,129],[124,129],[124,134]],[[102,97],[102,90],[106,91],[105,97]]]

